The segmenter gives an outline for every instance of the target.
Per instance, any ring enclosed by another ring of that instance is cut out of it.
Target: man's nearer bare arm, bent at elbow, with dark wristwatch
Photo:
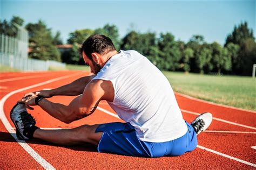
[[[92,114],[100,100],[113,101],[113,86],[109,81],[91,81],[84,89],[83,95],[76,97],[69,105],[53,103],[47,99],[39,102],[39,106],[48,112],[49,115],[65,123],[71,123],[78,119]],[[22,99],[27,105],[35,104],[36,96],[29,97],[28,100]]]

